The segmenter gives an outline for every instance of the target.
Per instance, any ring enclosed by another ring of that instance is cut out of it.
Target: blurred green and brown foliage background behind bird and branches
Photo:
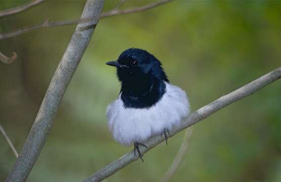
[[[29,1],[29,0],[28,0]],[[2,0],[1,9],[27,0]],[[104,11],[118,2],[106,1]],[[151,1],[126,1],[122,8]],[[0,32],[76,19],[84,1],[51,0],[0,19]],[[127,48],[163,62],[186,90],[192,111],[280,66],[280,1],[174,1],[131,15],[102,19],[62,100],[47,143],[28,181],[81,181],[131,148],[113,141],[105,109],[119,93],[104,63]],[[0,123],[20,151],[75,26],[45,28],[0,41]],[[280,181],[280,81],[193,126],[189,149],[171,181]],[[175,157],[183,132],[106,181],[157,181]],[[15,156],[0,136],[0,181]]]

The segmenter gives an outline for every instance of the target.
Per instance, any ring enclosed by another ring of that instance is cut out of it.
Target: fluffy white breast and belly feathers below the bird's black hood
[[[189,114],[189,101],[181,88],[166,82],[166,93],[150,108],[125,108],[121,96],[107,107],[106,117],[113,138],[129,146],[142,143],[165,128],[178,126]]]

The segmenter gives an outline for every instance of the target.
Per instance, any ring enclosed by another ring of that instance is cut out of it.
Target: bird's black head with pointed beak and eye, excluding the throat
[[[160,61],[145,50],[128,49],[118,57],[117,61],[106,64],[117,68],[117,76],[121,82],[138,82],[151,77],[168,81]]]

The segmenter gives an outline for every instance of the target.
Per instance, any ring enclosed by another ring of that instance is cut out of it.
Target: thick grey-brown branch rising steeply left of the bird
[[[99,16],[103,0],[87,0],[82,18]],[[6,181],[25,181],[47,138],[60,101],[92,37],[97,20],[78,24],[55,71],[22,151]]]

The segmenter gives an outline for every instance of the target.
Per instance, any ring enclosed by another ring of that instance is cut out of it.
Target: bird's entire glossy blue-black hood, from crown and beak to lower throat
[[[145,50],[131,48],[124,51],[117,61],[106,63],[117,68],[121,81],[122,100],[125,107],[148,108],[166,92],[169,82],[162,64]]]

